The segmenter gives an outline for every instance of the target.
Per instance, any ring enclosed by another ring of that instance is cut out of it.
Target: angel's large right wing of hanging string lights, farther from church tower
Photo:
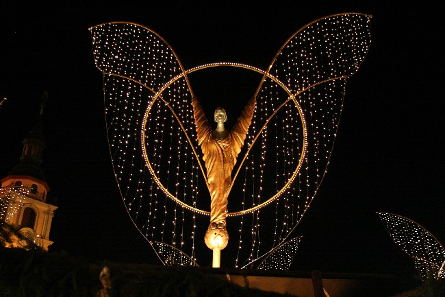
[[[230,211],[242,209],[229,215],[253,212],[239,223],[251,229],[239,248],[249,254],[247,263],[283,243],[314,199],[331,157],[346,80],[369,46],[370,16],[327,16],[290,36],[264,73],[232,189],[245,194],[238,206],[229,197]]]

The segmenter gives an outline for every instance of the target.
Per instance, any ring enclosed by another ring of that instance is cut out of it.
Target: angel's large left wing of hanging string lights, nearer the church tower
[[[105,23],[90,31],[94,62],[103,73],[112,165],[127,211],[161,261],[166,249],[159,242],[172,247],[171,257],[179,251],[194,261],[196,196],[205,182],[181,62],[162,37],[141,25]]]

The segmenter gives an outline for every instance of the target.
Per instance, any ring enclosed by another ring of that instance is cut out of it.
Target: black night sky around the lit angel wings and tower
[[[341,12],[372,14],[372,42],[346,85],[328,172],[296,228],[303,241],[292,269],[415,273],[376,211],[408,217],[445,243],[445,32],[434,5],[79,2],[0,4],[0,97],[8,98],[0,107],[0,177],[18,164],[21,141],[47,91],[44,172],[59,207],[50,251],[160,263],[118,193],[106,139],[103,76],[94,66],[89,27],[109,21],[149,27],[186,69],[220,61],[265,69],[296,30]],[[230,105],[230,98],[230,91],[215,92],[209,100]]]

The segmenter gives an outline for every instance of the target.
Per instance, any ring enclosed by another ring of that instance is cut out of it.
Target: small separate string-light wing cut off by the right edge
[[[427,229],[420,224],[393,213],[377,213],[392,240],[409,257],[425,281],[430,276],[445,278],[445,249]]]

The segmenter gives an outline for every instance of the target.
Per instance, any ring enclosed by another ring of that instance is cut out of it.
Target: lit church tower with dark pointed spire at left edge
[[[58,208],[51,204],[50,189],[42,170],[42,152],[46,147],[42,117],[46,103],[45,92],[34,128],[22,141],[20,163],[0,180],[0,220],[44,250],[53,243],[49,240],[49,231],[54,211]],[[12,244],[23,248],[26,245],[19,239]]]

